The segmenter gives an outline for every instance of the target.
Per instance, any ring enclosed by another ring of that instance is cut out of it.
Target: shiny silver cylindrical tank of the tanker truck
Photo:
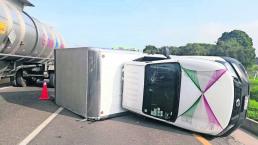
[[[32,57],[30,62],[39,61],[33,57],[53,58],[55,48],[64,48],[62,36],[32,18],[13,1],[0,0],[0,54]],[[0,55],[0,60],[10,60],[12,57],[8,55]]]

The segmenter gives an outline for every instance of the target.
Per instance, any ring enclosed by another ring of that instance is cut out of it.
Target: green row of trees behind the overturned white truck
[[[185,46],[164,46],[161,48],[148,45],[143,52],[161,53],[164,48],[168,48],[172,55],[229,56],[236,58],[246,67],[254,65],[256,62],[252,38],[240,30],[224,32],[216,44],[189,43]]]

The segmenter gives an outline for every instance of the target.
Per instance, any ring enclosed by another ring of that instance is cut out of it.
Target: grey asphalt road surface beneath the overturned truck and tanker
[[[24,140],[59,106],[40,101],[41,88],[0,88],[0,145],[15,145]],[[49,89],[53,95],[54,90]],[[195,133],[128,113],[98,121],[62,110],[30,145],[242,145],[258,144],[257,137],[243,130],[224,138],[205,139]]]

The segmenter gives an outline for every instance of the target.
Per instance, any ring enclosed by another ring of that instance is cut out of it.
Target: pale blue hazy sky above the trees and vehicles
[[[25,9],[59,31],[69,47],[216,43],[245,31],[258,54],[257,0],[30,0]]]

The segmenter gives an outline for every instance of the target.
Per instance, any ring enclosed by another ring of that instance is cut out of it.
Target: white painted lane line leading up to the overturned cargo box
[[[23,141],[18,145],[27,145],[32,141],[64,108],[60,107],[50,115],[44,122],[42,122],[34,131],[32,131]]]

